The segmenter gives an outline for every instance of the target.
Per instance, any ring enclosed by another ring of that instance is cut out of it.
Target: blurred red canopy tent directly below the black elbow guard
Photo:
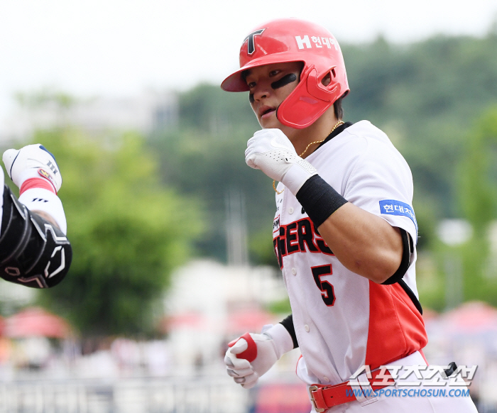
[[[24,309],[5,320],[4,335],[9,338],[66,338],[70,334],[65,319],[38,307]]]

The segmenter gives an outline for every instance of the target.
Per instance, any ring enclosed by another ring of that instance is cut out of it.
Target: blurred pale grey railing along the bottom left
[[[244,413],[248,392],[229,378],[0,382],[0,413]]]

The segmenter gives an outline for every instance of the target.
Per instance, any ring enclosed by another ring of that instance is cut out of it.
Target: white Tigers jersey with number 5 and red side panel
[[[355,123],[306,160],[349,202],[417,240],[413,177],[385,133],[368,121]],[[276,206],[273,242],[302,352],[302,380],[337,384],[362,365],[376,368],[426,345],[422,316],[400,285],[378,285],[347,270],[288,189],[276,195]],[[417,295],[415,260],[414,251],[404,280]]]

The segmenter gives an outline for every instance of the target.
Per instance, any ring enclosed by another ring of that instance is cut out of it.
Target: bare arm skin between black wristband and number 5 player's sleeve
[[[403,243],[398,228],[350,202],[318,231],[344,267],[373,282],[386,281],[399,268]]]

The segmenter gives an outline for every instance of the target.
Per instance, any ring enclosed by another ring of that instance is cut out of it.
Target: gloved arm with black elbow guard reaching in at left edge
[[[57,196],[62,185],[59,167],[40,144],[6,150],[3,160],[19,188],[19,199],[4,185],[0,168],[0,277],[28,287],[53,287],[65,277],[72,260]]]

